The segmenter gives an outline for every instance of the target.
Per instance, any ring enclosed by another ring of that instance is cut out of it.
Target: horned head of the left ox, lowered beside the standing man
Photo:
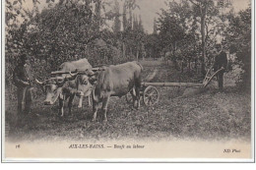
[[[69,81],[69,79],[64,77],[55,77],[44,82],[35,80],[35,82],[41,86],[43,92],[46,94],[46,98],[43,101],[44,105],[52,105],[55,103],[58,97],[63,97],[63,85],[65,85],[67,81]]]

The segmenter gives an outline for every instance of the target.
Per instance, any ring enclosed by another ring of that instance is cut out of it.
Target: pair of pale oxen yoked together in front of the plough
[[[78,70],[84,71],[83,74],[76,72]],[[142,65],[136,61],[94,69],[84,58],[61,64],[53,78],[44,82],[35,81],[46,94],[44,105],[52,105],[59,99],[59,115],[64,116],[65,100],[69,99],[68,108],[71,114],[72,103],[76,95],[80,97],[78,107],[82,107],[84,96],[92,96],[93,121],[96,121],[96,112],[101,102],[103,121],[107,121],[106,111],[110,96],[121,97],[131,92],[133,106],[140,107],[142,70]],[[89,105],[91,105],[90,98]]]

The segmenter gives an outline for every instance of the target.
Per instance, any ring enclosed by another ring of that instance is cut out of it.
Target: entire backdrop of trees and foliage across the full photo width
[[[12,72],[23,52],[31,56],[39,79],[65,61],[84,57],[94,66],[169,56],[189,66],[201,60],[208,67],[218,36],[225,50],[234,53],[233,63],[244,70],[240,81],[250,85],[250,8],[236,16],[223,1],[170,1],[149,34],[134,12],[140,9],[136,0],[123,0],[122,7],[119,2],[32,0],[27,9],[24,0],[6,0],[6,85],[12,88]],[[38,8],[42,4],[43,10]]]

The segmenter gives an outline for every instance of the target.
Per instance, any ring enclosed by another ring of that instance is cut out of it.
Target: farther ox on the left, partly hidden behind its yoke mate
[[[70,77],[71,72],[76,70],[88,70],[92,66],[86,58],[72,62],[65,62],[60,65],[56,76],[43,83],[36,80],[39,85],[45,86],[44,92],[46,93],[46,99],[44,105],[53,105],[57,99],[59,99],[59,115],[64,116],[64,101],[69,98],[68,108],[69,114],[71,114],[71,108],[75,95],[80,97],[79,106],[82,107],[82,100],[84,96],[90,97],[92,92],[92,85],[90,83],[80,85],[80,90],[77,90],[77,80]],[[89,105],[90,98],[89,98]]]

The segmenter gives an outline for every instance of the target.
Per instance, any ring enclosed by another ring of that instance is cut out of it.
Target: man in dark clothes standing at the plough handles
[[[226,53],[223,51],[222,44],[216,44],[217,55],[215,57],[214,71],[217,72],[220,69],[224,69],[217,75],[219,89],[224,89],[224,72],[227,66]]]

